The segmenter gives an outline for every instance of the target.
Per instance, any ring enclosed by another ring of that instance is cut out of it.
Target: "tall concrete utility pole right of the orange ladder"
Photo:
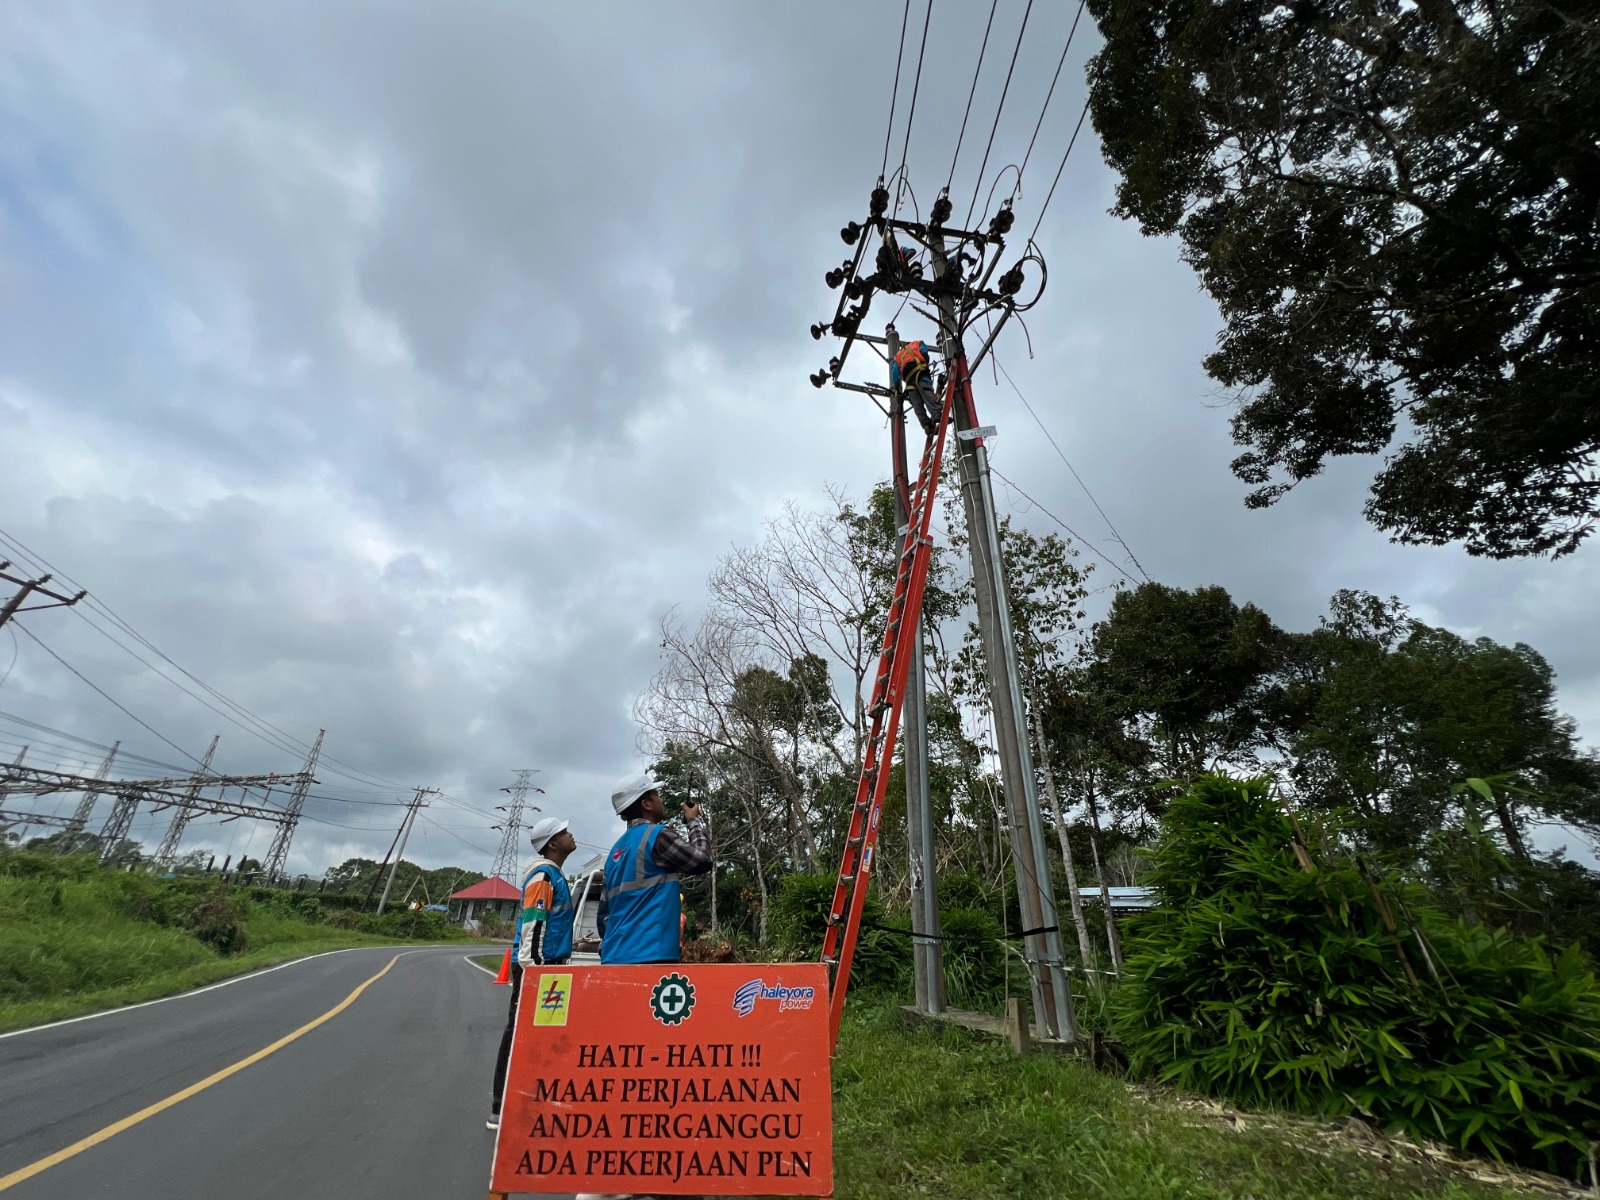
[[[933,278],[944,283],[952,272],[942,234],[928,237]],[[1045,827],[1038,811],[1034,755],[1027,742],[1027,706],[1022,699],[1022,672],[1011,629],[1011,605],[1005,562],[1000,554],[1000,522],[995,517],[994,485],[989,478],[986,437],[973,406],[971,378],[966,374],[966,347],[955,310],[957,290],[939,291],[939,346],[946,370],[955,376],[955,456],[962,477],[962,507],[966,512],[966,546],[973,562],[973,590],[978,598],[978,629],[984,643],[989,674],[989,704],[994,712],[995,741],[1000,749],[1000,781],[1005,787],[1006,819],[1016,861],[1016,890],[1022,912],[1024,957],[1034,986],[1034,1019],[1051,1038],[1077,1040],[1072,987],[1056,912],[1056,890],[1045,853]],[[1074,898],[1075,899],[1075,898]]]

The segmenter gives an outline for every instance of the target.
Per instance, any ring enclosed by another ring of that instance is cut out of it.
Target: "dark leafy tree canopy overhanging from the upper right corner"
[[[1266,506],[1389,451],[1400,541],[1568,554],[1600,514],[1600,27],[1552,0],[1090,0],[1117,213],[1226,322]],[[1398,445],[1397,445],[1398,443]]]

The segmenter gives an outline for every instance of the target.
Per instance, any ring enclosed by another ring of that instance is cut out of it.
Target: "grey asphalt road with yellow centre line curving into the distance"
[[[3,1184],[315,1021],[397,954],[299,1038]],[[483,1200],[494,1138],[483,1118],[507,997],[462,949],[374,947],[0,1037],[0,1194]]]

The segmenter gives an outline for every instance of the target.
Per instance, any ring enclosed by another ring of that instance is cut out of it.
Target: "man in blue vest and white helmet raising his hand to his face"
[[[678,880],[712,867],[699,805],[683,805],[683,834],[667,829],[661,781],[638,774],[616,786],[611,808],[627,830],[605,862],[600,962],[675,963],[683,952]]]

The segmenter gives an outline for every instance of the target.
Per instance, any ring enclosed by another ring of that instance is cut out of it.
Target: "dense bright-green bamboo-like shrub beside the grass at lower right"
[[[1312,832],[1296,853],[1259,779],[1173,800],[1112,1002],[1133,1069],[1576,1176],[1600,1136],[1584,955],[1453,922]]]

